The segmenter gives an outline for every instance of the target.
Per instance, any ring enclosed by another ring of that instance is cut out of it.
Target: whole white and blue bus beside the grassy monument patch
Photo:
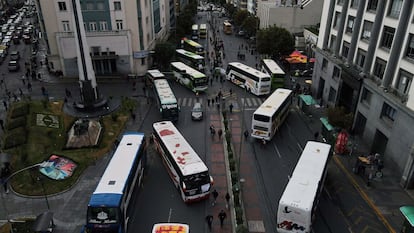
[[[127,232],[131,199],[142,183],[145,162],[144,133],[125,133],[89,200],[85,232]]]

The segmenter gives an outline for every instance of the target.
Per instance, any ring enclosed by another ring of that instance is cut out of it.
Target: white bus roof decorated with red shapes
[[[153,128],[173,156],[183,176],[208,171],[207,166],[171,121],[156,122]]]

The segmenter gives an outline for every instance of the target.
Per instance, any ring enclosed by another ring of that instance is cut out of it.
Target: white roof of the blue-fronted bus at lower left
[[[98,183],[95,194],[122,194],[134,161],[138,159],[144,133],[125,133]]]

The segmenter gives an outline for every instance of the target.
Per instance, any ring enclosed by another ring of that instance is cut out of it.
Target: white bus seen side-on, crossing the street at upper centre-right
[[[257,96],[270,93],[270,76],[240,62],[230,62],[226,78],[247,92]]]

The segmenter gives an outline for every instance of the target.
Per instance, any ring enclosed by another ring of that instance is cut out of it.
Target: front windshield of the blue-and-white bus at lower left
[[[89,207],[87,214],[87,221],[92,224],[115,224],[119,221],[116,207]]]

